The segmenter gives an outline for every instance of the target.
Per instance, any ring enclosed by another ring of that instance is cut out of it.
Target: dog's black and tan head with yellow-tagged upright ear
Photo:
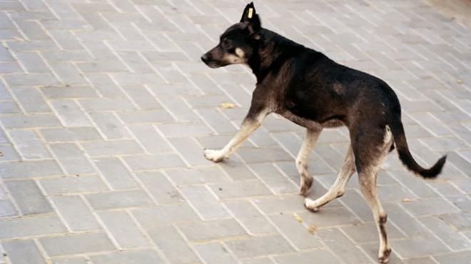
[[[211,68],[246,64],[253,55],[255,45],[260,41],[260,29],[260,18],[255,13],[253,3],[250,3],[245,6],[240,22],[226,29],[218,46],[201,56],[201,60]]]

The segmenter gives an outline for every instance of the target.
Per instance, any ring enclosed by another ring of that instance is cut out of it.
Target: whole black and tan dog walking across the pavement
[[[408,170],[422,178],[435,178],[446,161],[445,155],[431,168],[422,168],[412,158],[393,89],[380,78],[338,64],[318,51],[263,29],[253,3],[245,6],[240,22],[226,29],[219,44],[201,60],[211,68],[245,64],[257,78],[250,109],[236,136],[221,150],[204,150],[204,156],[210,161],[223,161],[265,116],[278,113],[306,128],[295,164],[300,173],[300,194],[308,196],[313,176],[308,173],[307,160],[321,131],[346,126],[350,146],[335,183],[317,200],[305,198],[304,205],[315,212],[343,196],[356,171],[378,228],[378,261],[387,263],[391,253],[387,215],[376,193],[381,163],[396,148]]]

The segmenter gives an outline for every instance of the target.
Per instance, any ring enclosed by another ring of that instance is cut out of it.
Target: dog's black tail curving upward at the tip
[[[432,168],[422,168],[412,158],[409,147],[407,146],[407,140],[405,139],[404,127],[401,121],[395,121],[390,124],[391,133],[393,133],[394,142],[399,154],[399,159],[402,161],[410,171],[422,176],[423,178],[435,178],[442,172],[443,165],[447,161],[447,156],[442,156]]]

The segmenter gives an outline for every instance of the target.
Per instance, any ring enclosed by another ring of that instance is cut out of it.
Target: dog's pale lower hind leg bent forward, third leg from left
[[[317,211],[319,208],[326,203],[329,203],[331,200],[343,196],[345,193],[345,188],[347,187],[348,180],[355,173],[355,158],[353,158],[352,147],[350,146],[343,161],[343,165],[338,172],[337,179],[329,191],[317,200],[311,200],[306,198],[304,205],[305,208],[308,208],[312,211]]]

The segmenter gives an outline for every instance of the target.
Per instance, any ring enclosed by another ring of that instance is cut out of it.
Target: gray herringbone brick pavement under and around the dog
[[[448,153],[436,181],[386,161],[390,263],[469,261],[471,29],[422,1],[255,5],[265,27],[388,81],[422,164]],[[355,179],[319,213],[303,208],[300,127],[270,116],[227,162],[203,158],[237,130],[255,83],[199,61],[243,6],[0,0],[1,264],[375,263]],[[347,146],[345,130],[323,133],[311,196]]]

